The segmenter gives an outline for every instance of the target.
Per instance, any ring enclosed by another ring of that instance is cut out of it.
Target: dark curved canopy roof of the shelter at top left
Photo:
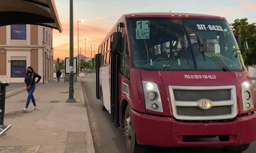
[[[62,32],[54,0],[0,0],[0,26],[35,24]]]

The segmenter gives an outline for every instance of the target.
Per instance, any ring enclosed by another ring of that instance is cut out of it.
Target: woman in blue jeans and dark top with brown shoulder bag
[[[37,82],[35,82],[35,78],[38,78]],[[31,110],[37,109],[36,105],[35,105],[35,98],[33,96],[33,93],[35,91],[35,85],[41,80],[41,78],[42,77],[40,75],[38,75],[34,72],[34,70],[31,66],[27,67],[27,73],[26,73],[26,76],[25,76],[25,83],[26,83],[27,87],[31,86],[31,89],[29,91],[27,91],[27,93],[29,93],[29,95],[27,96],[26,106],[25,106],[24,109],[22,109],[22,111],[27,112],[27,107],[29,107],[30,99],[31,99],[31,101],[33,102],[33,105],[34,105],[34,107]]]

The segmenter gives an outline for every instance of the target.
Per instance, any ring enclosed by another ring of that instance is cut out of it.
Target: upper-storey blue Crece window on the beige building
[[[11,25],[11,39],[26,40],[26,25]]]

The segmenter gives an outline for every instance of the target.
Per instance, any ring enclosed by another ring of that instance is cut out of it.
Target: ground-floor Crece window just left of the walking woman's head
[[[11,78],[24,78],[26,70],[26,60],[11,60]]]

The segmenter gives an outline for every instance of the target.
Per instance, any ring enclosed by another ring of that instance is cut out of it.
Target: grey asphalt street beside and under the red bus
[[[100,101],[95,98],[95,74],[87,74],[82,80],[95,153],[127,153],[122,132],[110,122],[108,111],[101,110]],[[215,138],[218,139],[218,138]],[[243,153],[255,153],[256,142]],[[148,146],[146,153],[229,153],[223,147],[211,148],[165,148]]]

